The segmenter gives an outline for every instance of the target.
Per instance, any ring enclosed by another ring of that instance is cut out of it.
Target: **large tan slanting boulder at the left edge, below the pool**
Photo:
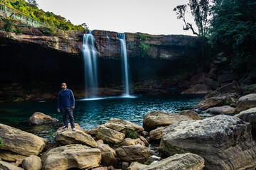
[[[46,140],[41,137],[1,123],[0,136],[5,145],[2,149],[25,156],[38,155],[46,145]]]

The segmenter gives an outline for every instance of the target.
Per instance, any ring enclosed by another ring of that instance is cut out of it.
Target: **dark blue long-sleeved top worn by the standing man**
[[[75,98],[73,92],[70,89],[60,91],[58,94],[57,108],[65,106],[75,106]]]

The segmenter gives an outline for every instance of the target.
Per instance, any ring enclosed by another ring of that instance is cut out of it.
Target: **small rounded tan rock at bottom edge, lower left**
[[[31,155],[22,161],[22,167],[26,170],[41,170],[43,167],[40,157]]]

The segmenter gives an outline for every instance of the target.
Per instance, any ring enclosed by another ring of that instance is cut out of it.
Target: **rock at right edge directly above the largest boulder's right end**
[[[256,130],[256,108],[250,108],[245,111],[241,111],[238,115],[235,115],[235,117],[250,123],[252,128]]]

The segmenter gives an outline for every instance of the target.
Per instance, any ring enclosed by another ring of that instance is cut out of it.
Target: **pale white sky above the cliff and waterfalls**
[[[36,0],[38,8],[65,17],[71,23],[86,23],[90,30],[152,35],[193,35],[183,30],[174,8],[188,0]],[[193,23],[191,13],[187,22]]]

